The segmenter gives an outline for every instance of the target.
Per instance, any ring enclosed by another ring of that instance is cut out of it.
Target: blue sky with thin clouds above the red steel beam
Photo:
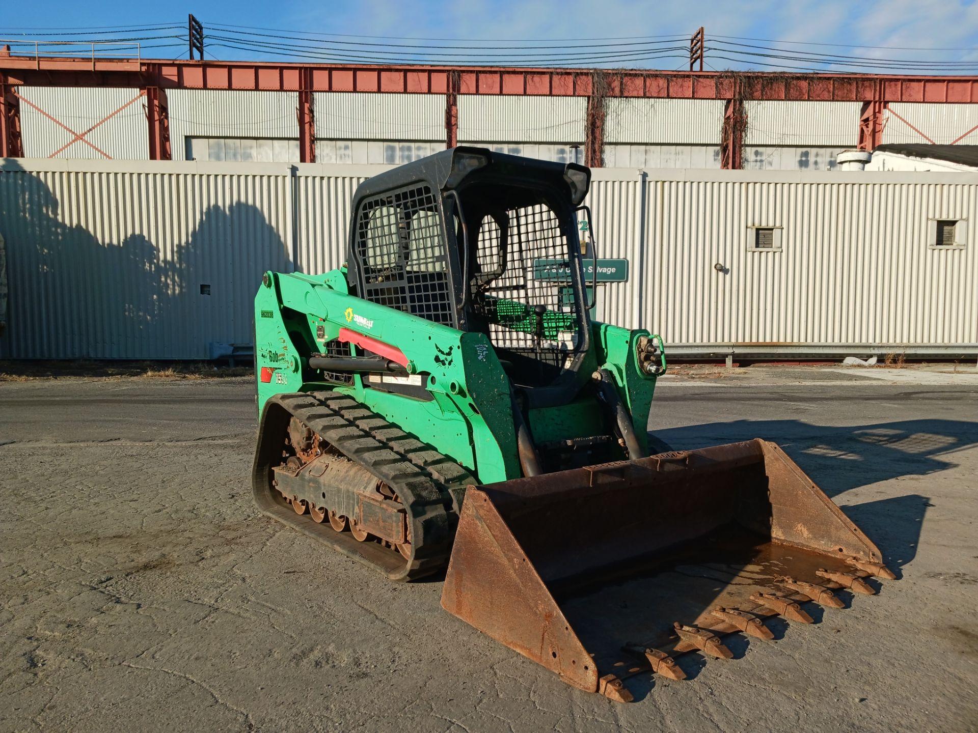
[[[56,32],[80,27],[184,23],[188,13],[194,13],[205,24],[227,23],[281,28],[307,34],[337,34],[333,40],[341,39],[340,34],[344,34],[453,39],[457,44],[483,39],[563,41],[689,36],[696,27],[704,25],[708,36],[774,39],[793,52],[821,51],[874,59],[972,61],[975,63],[974,68],[962,68],[959,71],[978,72],[978,52],[975,51],[978,48],[978,2],[975,0],[284,0],[277,3],[258,0],[198,0],[185,3],[177,0],[150,5],[52,0],[34,3],[9,2],[7,6],[3,14],[4,22],[0,25],[0,37],[3,38],[17,37],[20,33],[39,38],[55,38]],[[208,35],[216,33],[220,31],[208,29]],[[256,40],[289,42],[257,37]],[[856,51],[842,47],[800,45],[811,42],[900,48]],[[506,43],[501,42],[499,45]],[[963,50],[918,52],[904,50],[906,48]],[[178,47],[147,50],[144,55],[173,58],[181,53],[183,49]],[[717,69],[743,68],[749,65],[719,58],[721,55],[718,51],[708,52],[707,64]],[[259,51],[216,47],[211,48],[207,56],[222,59],[281,59]],[[475,58],[473,61],[484,63],[487,59]],[[762,57],[755,58],[754,62],[792,64]],[[622,64],[619,61],[614,65],[678,68],[683,66],[683,61],[665,58],[640,60],[631,64]]]

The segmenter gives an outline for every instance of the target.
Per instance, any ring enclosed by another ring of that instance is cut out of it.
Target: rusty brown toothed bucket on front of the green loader
[[[621,679],[722,635],[811,623],[839,588],[892,578],[879,550],[776,444],[661,453],[469,487],[441,604],[576,687]],[[811,611],[813,607],[809,607]]]

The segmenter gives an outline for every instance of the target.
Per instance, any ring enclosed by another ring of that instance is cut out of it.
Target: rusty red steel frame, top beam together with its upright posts
[[[22,152],[13,89],[19,85],[140,88],[147,99],[150,151],[155,159],[169,157],[167,89],[298,92],[299,151],[303,161],[313,161],[315,92],[443,95],[446,143],[452,145],[458,138],[460,94],[592,98],[595,76],[592,69],[48,59],[0,53],[0,154]],[[601,77],[600,100],[645,97],[728,102],[722,147],[724,164],[730,167],[738,165],[740,158],[740,110],[746,100],[862,102],[859,145],[866,150],[879,143],[882,113],[888,103],[978,103],[978,76],[614,70],[602,72]],[[592,109],[589,120],[587,150],[597,153],[589,153],[588,159],[600,165],[602,111]]]

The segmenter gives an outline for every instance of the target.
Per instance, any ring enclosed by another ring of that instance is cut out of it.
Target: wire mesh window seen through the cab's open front
[[[581,343],[567,238],[546,203],[485,214],[476,235],[472,305],[499,349],[569,366]]]

